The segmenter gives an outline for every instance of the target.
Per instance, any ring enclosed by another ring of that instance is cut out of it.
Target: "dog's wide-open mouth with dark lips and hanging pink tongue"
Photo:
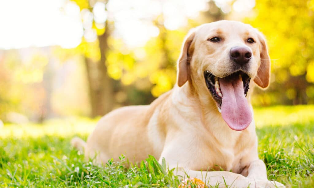
[[[217,103],[218,110],[229,127],[244,130],[252,122],[251,108],[246,100],[251,78],[237,71],[224,78],[204,71],[206,86]]]

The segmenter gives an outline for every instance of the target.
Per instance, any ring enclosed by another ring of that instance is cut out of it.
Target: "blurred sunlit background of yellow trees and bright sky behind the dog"
[[[314,1],[0,1],[0,122],[97,117],[176,82],[187,31],[239,20],[266,36],[271,86],[255,107],[314,104]]]

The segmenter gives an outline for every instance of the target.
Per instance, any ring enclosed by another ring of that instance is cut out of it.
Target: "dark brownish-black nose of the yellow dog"
[[[230,50],[230,58],[239,65],[244,65],[252,57],[250,49],[247,47],[233,47]]]

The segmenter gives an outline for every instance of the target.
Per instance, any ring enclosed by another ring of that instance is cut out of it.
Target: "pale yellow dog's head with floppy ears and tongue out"
[[[266,42],[257,29],[226,20],[203,24],[187,35],[177,64],[178,86],[191,82],[196,92],[211,96],[230,128],[247,128],[250,80],[266,88],[270,76]]]

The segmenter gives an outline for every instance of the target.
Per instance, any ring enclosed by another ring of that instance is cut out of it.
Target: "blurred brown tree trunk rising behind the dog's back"
[[[109,49],[107,44],[109,35],[106,23],[105,33],[98,36],[99,62],[92,62],[92,60],[85,57],[92,117],[105,115],[111,111],[114,104],[113,80],[107,75],[107,67],[105,65],[106,52]]]

